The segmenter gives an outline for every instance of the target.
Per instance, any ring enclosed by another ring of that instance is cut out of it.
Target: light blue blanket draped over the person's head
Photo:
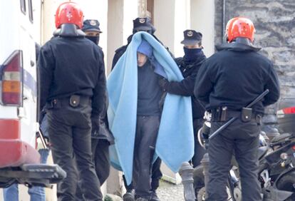
[[[138,105],[137,49],[142,38],[152,46],[153,56],[164,68],[167,79],[183,79],[167,50],[153,36],[142,31],[134,34],[127,50],[110,73],[107,83],[108,120],[115,137],[115,145],[110,147],[110,160],[114,168],[124,172],[128,184],[132,180]],[[173,172],[177,172],[183,162],[192,158],[194,135],[190,97],[167,93],[155,153]]]

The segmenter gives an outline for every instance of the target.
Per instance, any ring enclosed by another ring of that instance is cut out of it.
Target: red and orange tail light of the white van
[[[3,105],[22,105],[23,93],[23,54],[14,51],[0,68],[1,103]]]

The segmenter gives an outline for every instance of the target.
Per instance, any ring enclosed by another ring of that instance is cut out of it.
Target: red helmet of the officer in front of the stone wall
[[[251,20],[244,17],[235,17],[227,22],[227,41],[230,43],[235,38],[249,38],[254,40],[254,24]]]

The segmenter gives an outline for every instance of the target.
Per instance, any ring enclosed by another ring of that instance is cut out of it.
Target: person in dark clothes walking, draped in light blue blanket
[[[115,138],[110,163],[124,172],[127,185],[133,182],[140,200],[155,200],[150,166],[157,156],[178,172],[194,154],[191,98],[162,91],[158,75],[168,81],[183,79],[162,44],[139,31],[107,82],[108,123]]]

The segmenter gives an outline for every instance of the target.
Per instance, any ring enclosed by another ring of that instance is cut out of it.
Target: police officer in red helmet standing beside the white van
[[[90,118],[98,123],[105,105],[105,67],[101,49],[85,38],[82,25],[77,4],[58,6],[55,37],[41,48],[38,61],[53,161],[67,173],[58,183],[58,200],[75,200],[77,176],[86,200],[103,199],[91,158],[91,127],[97,125]]]

